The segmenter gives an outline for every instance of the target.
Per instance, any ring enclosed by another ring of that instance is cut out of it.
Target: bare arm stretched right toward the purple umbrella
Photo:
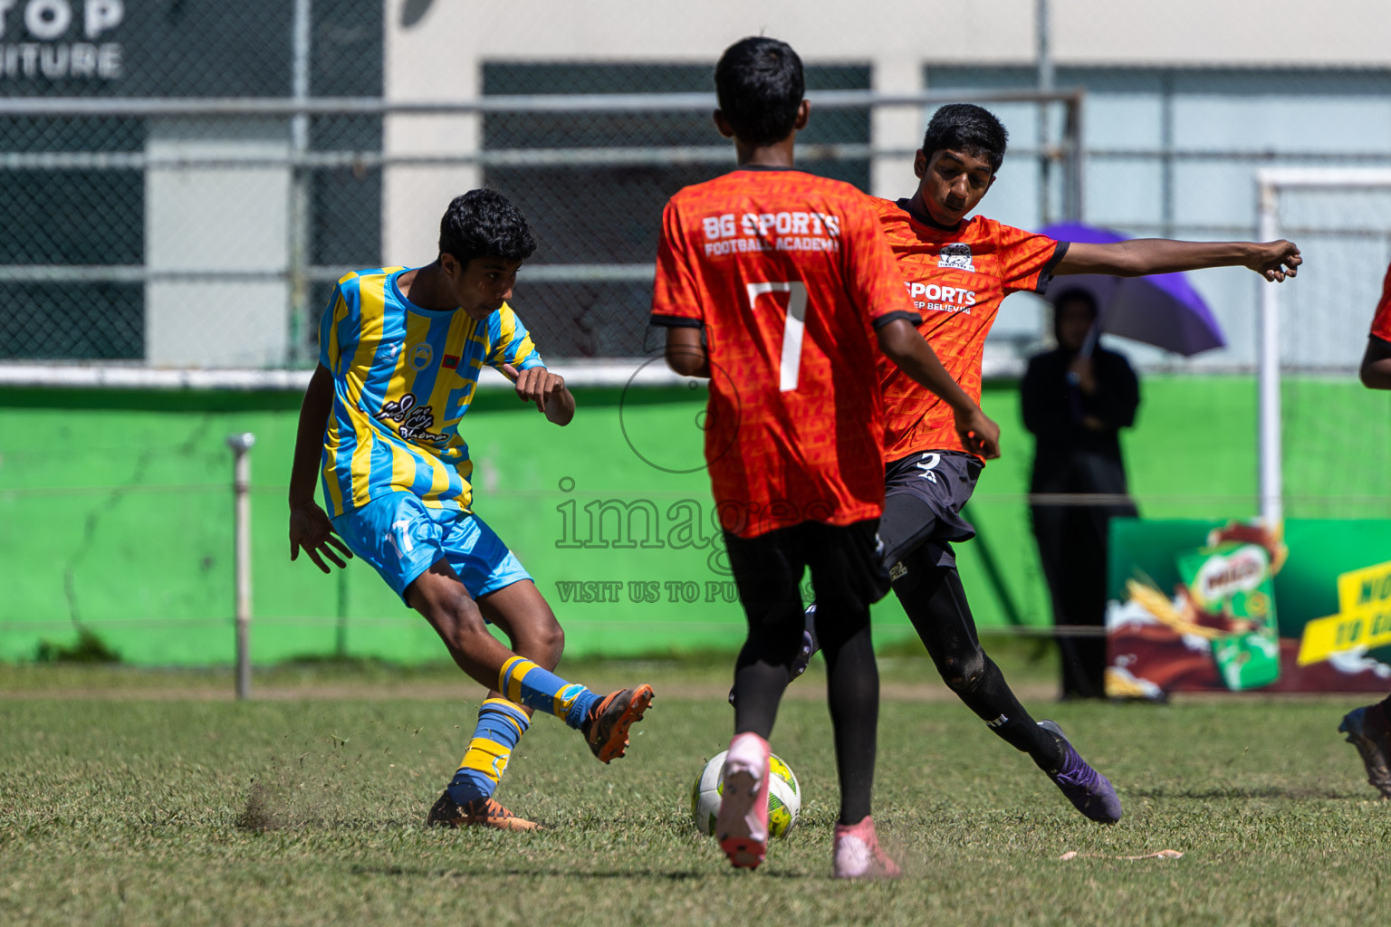
[[[1248,267],[1267,281],[1294,277],[1303,259],[1294,242],[1171,242],[1167,238],[1136,238],[1109,245],[1072,242],[1053,270],[1063,274],[1113,274],[1142,277],[1174,274],[1205,267]]]

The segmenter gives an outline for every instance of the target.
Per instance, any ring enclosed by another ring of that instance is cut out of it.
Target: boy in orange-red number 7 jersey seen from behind
[[[972,436],[988,420],[914,329],[918,314],[868,199],[793,170],[808,117],[797,53],[768,38],[737,42],[715,86],[715,124],[734,139],[739,168],[666,204],[652,296],[670,367],[711,379],[705,459],[748,620],[715,835],[734,866],[764,860],[766,738],[801,650],[798,585],[810,567],[840,773],[835,874],[893,877],[869,816],[879,712],[869,605],[889,589],[876,550],[875,339],[958,410],[970,446],[995,448]]]

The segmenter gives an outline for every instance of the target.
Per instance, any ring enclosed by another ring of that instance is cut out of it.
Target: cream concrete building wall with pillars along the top
[[[531,0],[512,3],[387,0],[384,93],[389,100],[479,96],[483,61],[709,63],[746,35],[790,42],[807,61],[868,63],[882,92],[914,92],[929,65],[1032,65],[1035,0]],[[1391,4],[1340,0],[1316,15],[1295,0],[1052,0],[1053,58],[1064,65],[1118,67],[1391,67]],[[879,147],[911,149],[922,114],[874,114]],[[714,139],[712,139],[714,140]],[[474,117],[398,117],[387,150],[474,151]],[[878,158],[871,188],[897,195],[904,157]],[[419,260],[434,247],[444,202],[476,185],[476,170],[398,167],[388,172],[383,214],[388,261]]]

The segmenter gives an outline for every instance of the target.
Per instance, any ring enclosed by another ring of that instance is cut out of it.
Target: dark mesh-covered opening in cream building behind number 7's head
[[[868,90],[868,67],[808,67],[808,89]],[[698,65],[504,64],[484,67],[484,93],[698,93],[712,86]],[[868,189],[869,108],[818,113],[798,143],[854,146],[854,158],[810,151],[811,170]],[[485,153],[584,149],[587,163],[490,164],[484,181],[531,217],[537,267],[556,268],[527,282],[530,324],[562,357],[625,357],[658,347],[647,322],[662,206],[683,186],[729,170],[729,143],[709,107],[629,113],[488,113]],[[606,265],[595,270],[594,265]]]

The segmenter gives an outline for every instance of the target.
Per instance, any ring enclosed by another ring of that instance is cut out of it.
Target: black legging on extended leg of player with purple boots
[[[1028,753],[1039,769],[1056,773],[1061,746],[1029,717],[1000,667],[981,649],[961,577],[954,566],[936,566],[939,561],[940,550],[931,542],[900,561],[906,571],[894,580],[893,592],[903,610],[947,688],[1000,738]]]

